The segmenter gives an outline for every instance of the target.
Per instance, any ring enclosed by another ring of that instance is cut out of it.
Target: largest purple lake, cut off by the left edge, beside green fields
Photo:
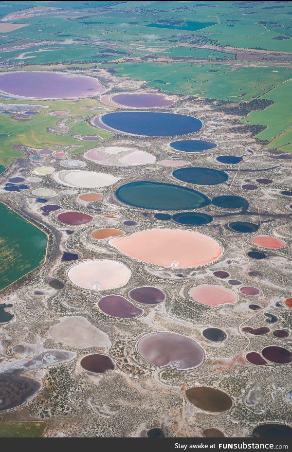
[[[61,72],[18,71],[0,75],[0,90],[37,99],[93,97],[104,91],[98,79]]]

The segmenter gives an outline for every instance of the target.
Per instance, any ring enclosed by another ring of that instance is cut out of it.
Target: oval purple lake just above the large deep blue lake
[[[113,102],[125,107],[153,108],[168,107],[174,104],[174,100],[167,99],[164,94],[117,94],[111,98]]]

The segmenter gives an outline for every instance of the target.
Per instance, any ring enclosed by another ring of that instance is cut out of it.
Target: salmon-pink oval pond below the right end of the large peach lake
[[[212,284],[202,284],[190,289],[189,296],[207,306],[220,306],[225,304],[233,304],[237,302],[237,294],[225,287],[215,286]]]

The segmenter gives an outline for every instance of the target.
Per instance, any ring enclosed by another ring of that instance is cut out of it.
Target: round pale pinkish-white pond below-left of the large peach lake
[[[115,260],[93,259],[73,265],[67,276],[73,284],[84,289],[108,290],[125,286],[131,271]]]

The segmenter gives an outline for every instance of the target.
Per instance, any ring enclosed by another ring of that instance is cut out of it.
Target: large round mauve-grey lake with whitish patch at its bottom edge
[[[145,361],[172,370],[194,369],[205,359],[201,345],[186,336],[169,332],[147,334],[138,341],[137,350]]]

